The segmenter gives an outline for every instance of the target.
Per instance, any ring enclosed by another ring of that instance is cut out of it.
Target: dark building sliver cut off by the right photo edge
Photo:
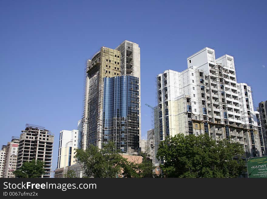
[[[259,103],[259,107],[257,108],[260,114],[260,121],[262,124],[262,134],[263,134],[263,142],[265,144],[265,151],[267,151],[267,101],[262,101]],[[257,118],[258,119],[258,118]]]

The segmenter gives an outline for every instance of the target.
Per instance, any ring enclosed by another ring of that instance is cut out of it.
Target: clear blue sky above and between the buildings
[[[25,124],[55,134],[77,128],[83,108],[86,59],[123,40],[141,52],[141,131],[150,129],[155,78],[182,71],[204,47],[235,58],[238,82],[266,94],[266,1],[0,1],[0,144]]]

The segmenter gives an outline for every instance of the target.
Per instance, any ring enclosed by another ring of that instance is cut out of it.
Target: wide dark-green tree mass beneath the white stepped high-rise
[[[164,160],[165,177],[238,177],[245,171],[241,144],[216,142],[207,134],[177,134],[159,144],[157,158]]]

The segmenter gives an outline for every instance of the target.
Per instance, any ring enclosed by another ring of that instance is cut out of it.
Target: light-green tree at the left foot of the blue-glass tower
[[[103,144],[102,149],[92,144],[85,151],[77,149],[75,158],[83,163],[86,177],[117,177],[127,161],[113,142]]]

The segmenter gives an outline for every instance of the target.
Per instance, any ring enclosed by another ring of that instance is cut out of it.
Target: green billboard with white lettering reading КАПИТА
[[[267,178],[267,156],[248,158],[247,168],[249,178]]]

